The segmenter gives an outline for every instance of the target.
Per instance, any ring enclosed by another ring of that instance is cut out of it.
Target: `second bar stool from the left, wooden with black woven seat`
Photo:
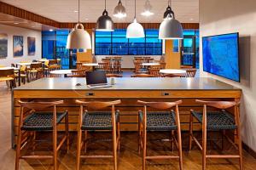
[[[113,158],[113,169],[117,170],[117,150],[120,147],[120,130],[119,130],[119,111],[115,111],[114,106],[121,103],[121,100],[115,101],[81,101],[76,100],[80,105],[79,127],[78,127],[78,149],[77,149],[77,170],[80,169],[80,158]],[[102,110],[111,106],[111,111],[84,111],[84,106],[92,110]],[[84,131],[84,140],[82,141],[82,131]],[[113,133],[113,156],[81,156],[81,149],[84,145],[84,152],[87,148],[88,131],[112,131]]]

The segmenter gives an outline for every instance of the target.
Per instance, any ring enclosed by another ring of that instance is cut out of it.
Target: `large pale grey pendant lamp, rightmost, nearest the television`
[[[183,26],[175,19],[174,12],[171,8],[171,0],[168,2],[168,7],[164,14],[164,20],[159,28],[160,39],[183,39]]]

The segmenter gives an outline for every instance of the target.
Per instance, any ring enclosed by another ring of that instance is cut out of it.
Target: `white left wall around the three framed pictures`
[[[34,31],[30,29],[0,25],[0,33],[8,35],[8,56],[7,58],[0,58],[0,65],[10,66],[11,63],[18,63],[22,60],[41,59],[42,55],[42,36],[41,31]],[[13,36],[23,36],[23,56],[14,57],[13,53]],[[36,54],[27,55],[27,37],[36,37]]]

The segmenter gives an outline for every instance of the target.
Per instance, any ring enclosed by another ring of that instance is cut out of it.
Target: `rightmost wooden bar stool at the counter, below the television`
[[[205,170],[207,166],[207,158],[238,158],[240,161],[240,169],[242,167],[242,147],[241,147],[241,130],[239,120],[238,102],[235,101],[203,101],[196,99],[196,103],[203,105],[203,111],[191,110],[189,121],[189,150],[192,147],[192,141],[199,146],[202,151],[202,169]],[[220,111],[207,111],[207,106],[217,108]],[[235,116],[229,111],[229,108],[234,107]],[[193,135],[193,117],[202,124],[202,144]],[[236,130],[236,137],[238,139],[238,148],[236,144],[224,134],[226,139],[239,150],[238,155],[207,155],[207,131],[224,131]]]

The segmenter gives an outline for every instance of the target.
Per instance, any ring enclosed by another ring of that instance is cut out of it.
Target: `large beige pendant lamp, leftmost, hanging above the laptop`
[[[90,49],[90,34],[84,30],[80,23],[80,0],[79,0],[79,23],[67,36],[67,48],[69,49]]]

